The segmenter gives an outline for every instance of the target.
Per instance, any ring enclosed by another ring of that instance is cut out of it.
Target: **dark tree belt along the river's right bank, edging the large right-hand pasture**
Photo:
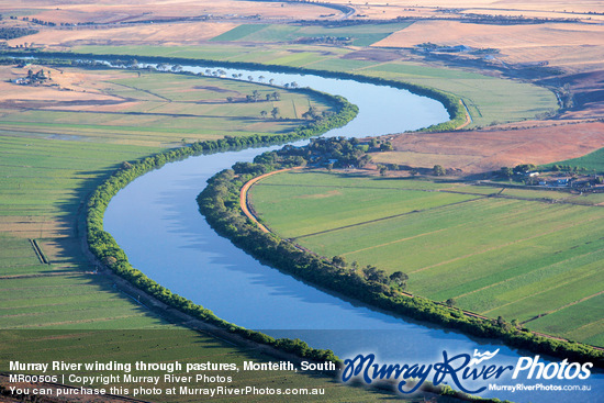
[[[331,147],[333,146],[333,147]],[[313,154],[312,150],[321,149]],[[198,198],[200,211],[209,223],[235,245],[273,267],[327,289],[378,306],[380,309],[434,322],[465,333],[497,338],[513,346],[527,348],[539,354],[549,354],[574,360],[594,360],[604,365],[604,352],[590,346],[538,336],[526,328],[516,327],[499,320],[485,320],[462,311],[420,296],[409,296],[399,291],[391,278],[377,268],[367,268],[360,273],[346,267],[342,260],[325,259],[302,250],[287,239],[275,234],[261,232],[242,214],[239,208],[239,188],[249,179],[276,169],[302,165],[325,155],[326,148],[342,153],[348,158],[356,147],[342,139],[316,139],[310,147],[294,148],[286,146],[280,152],[271,152],[255,158],[253,164],[236,164],[233,169],[215,175]],[[337,150],[334,150],[337,148]]]

